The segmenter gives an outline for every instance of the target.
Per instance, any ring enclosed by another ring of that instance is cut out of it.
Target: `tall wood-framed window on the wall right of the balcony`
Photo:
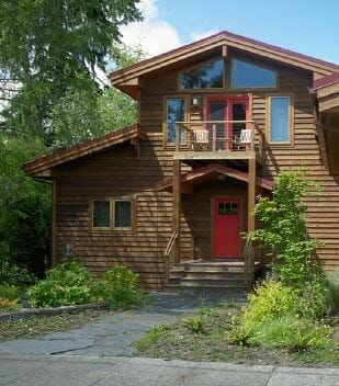
[[[269,141],[291,143],[291,98],[269,96]]]

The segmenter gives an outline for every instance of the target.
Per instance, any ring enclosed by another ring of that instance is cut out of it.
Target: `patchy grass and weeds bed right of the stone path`
[[[291,352],[287,348],[236,345],[227,339],[227,327],[239,307],[197,309],[171,325],[156,326],[135,347],[139,355],[188,361],[221,361],[248,364],[339,366],[339,342],[326,348]],[[337,325],[338,320],[332,319]]]

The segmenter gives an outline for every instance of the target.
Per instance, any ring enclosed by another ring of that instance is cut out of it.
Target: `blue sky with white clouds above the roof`
[[[221,31],[339,64],[338,0],[142,0],[144,21],[121,29],[148,57]]]

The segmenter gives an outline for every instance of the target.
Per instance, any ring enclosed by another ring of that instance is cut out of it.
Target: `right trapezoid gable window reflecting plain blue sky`
[[[230,68],[230,88],[276,88],[276,71],[244,60],[233,59]]]

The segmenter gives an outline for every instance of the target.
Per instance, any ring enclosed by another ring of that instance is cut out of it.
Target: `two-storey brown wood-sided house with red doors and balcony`
[[[258,194],[306,166],[310,237],[339,265],[339,66],[229,32],[110,75],[138,122],[25,164],[53,182],[53,263],[113,264],[146,288],[248,286]]]

